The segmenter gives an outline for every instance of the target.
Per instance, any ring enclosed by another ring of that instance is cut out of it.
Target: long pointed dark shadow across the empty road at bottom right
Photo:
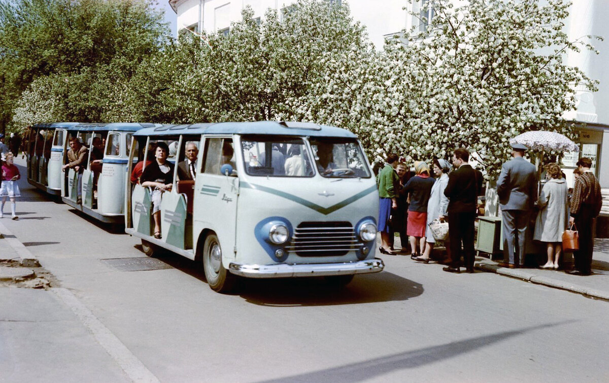
[[[310,373],[286,376],[284,378],[263,381],[264,383],[279,382],[361,382],[374,379],[378,376],[391,373],[392,371],[417,368],[423,365],[441,362],[451,357],[469,353],[470,351],[501,342],[511,337],[524,335],[527,332],[538,329],[547,329],[554,326],[564,325],[574,321],[563,321],[558,323],[547,323],[545,325],[531,326],[513,331],[496,332],[485,336],[459,340],[457,342],[445,343],[443,345],[420,348],[418,350],[406,351],[404,353],[387,355],[364,362],[358,362],[340,367],[327,368],[325,370],[312,371]]]

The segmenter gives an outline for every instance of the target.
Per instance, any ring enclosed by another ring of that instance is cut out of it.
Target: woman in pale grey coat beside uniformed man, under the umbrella
[[[547,261],[542,269],[558,269],[563,232],[569,216],[569,188],[557,163],[546,165],[549,177],[537,200],[540,209],[535,221],[535,241],[546,242]]]

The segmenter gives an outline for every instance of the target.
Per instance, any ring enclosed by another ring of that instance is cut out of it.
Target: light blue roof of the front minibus
[[[277,135],[277,136],[323,136],[357,138],[347,129],[311,122],[255,121],[255,122],[217,122],[191,125],[161,125],[139,130],[135,136],[173,136],[173,135]]]

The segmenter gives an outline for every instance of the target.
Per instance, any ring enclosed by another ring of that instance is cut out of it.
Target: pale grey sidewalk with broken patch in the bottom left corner
[[[0,307],[0,382],[158,382],[1,222]]]

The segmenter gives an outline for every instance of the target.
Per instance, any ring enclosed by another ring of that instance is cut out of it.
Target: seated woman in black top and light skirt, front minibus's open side
[[[169,147],[165,142],[157,143],[155,161],[144,168],[140,177],[144,188],[152,189],[152,217],[154,219],[154,237],[161,238],[161,197],[164,191],[171,191],[174,182],[174,166],[167,162]]]

